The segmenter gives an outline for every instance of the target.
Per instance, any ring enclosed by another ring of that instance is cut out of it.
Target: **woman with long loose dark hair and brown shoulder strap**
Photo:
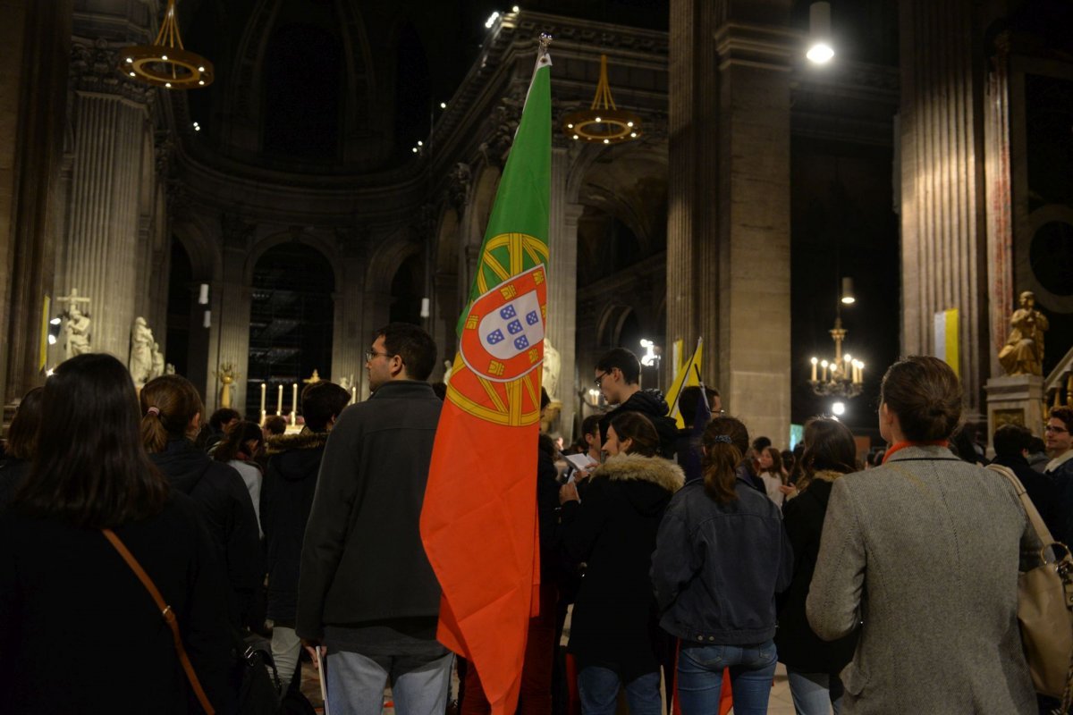
[[[86,354],[45,383],[32,471],[0,515],[0,712],[196,712],[164,616],[103,528],[171,606],[209,700],[230,706],[208,536],[146,457],[130,373]]]

